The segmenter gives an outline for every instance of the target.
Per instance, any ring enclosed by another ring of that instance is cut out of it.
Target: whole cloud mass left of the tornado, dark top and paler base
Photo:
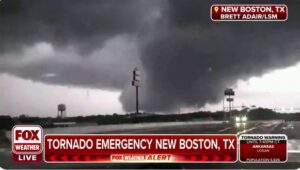
[[[46,83],[121,89],[158,1],[3,0],[0,71]],[[52,75],[52,76],[44,76]]]

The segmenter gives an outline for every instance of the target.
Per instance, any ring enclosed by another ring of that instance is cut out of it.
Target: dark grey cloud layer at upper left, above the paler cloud
[[[107,38],[133,33],[151,3],[130,0],[4,0],[0,5],[1,48],[35,41],[99,47]]]

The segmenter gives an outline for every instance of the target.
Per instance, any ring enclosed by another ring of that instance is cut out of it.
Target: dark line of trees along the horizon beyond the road
[[[228,114],[228,113],[227,113]],[[256,108],[243,109],[241,111],[233,110],[232,115],[239,114],[247,115],[248,120],[287,120],[300,121],[300,113],[281,114],[270,109]],[[108,124],[130,124],[144,122],[180,122],[180,121],[197,121],[197,120],[224,120],[225,114],[223,111],[210,112],[200,111],[184,114],[151,114],[151,113],[128,113],[112,115],[91,115],[91,116],[76,116],[66,117],[64,119],[52,117],[30,117],[21,115],[19,117],[0,116],[0,130],[10,130],[16,124],[38,124],[44,128],[54,127],[54,122],[76,122],[76,123],[96,123],[98,125]]]

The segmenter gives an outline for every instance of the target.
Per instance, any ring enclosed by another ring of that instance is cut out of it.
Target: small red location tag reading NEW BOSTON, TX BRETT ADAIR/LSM
[[[286,21],[288,7],[283,4],[214,4],[210,15],[213,21]]]

